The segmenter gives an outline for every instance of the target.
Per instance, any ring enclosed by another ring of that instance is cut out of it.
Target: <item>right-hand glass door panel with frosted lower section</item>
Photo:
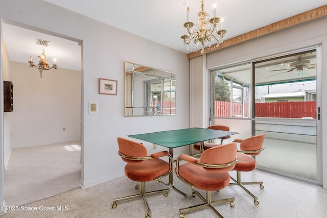
[[[317,49],[253,62],[253,134],[266,134],[258,165],[318,178]]]

